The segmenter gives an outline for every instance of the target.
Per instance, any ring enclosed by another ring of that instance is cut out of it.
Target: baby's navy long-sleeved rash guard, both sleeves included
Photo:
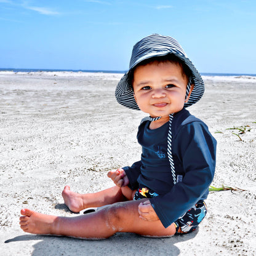
[[[138,127],[138,143],[142,145],[141,161],[124,167],[132,190],[142,184],[159,196],[150,199],[156,214],[167,228],[199,199],[206,199],[214,178],[216,140],[208,127],[187,110],[172,120],[172,158],[175,173],[182,182],[174,185],[167,157],[168,122],[158,129],[149,129],[150,121]]]

